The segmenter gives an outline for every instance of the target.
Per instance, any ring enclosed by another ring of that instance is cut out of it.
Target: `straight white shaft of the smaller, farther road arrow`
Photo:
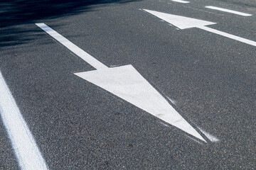
[[[222,35],[222,36],[224,36],[224,37],[226,37],[226,38],[231,38],[231,39],[233,39],[233,40],[238,40],[238,41],[240,41],[240,42],[244,42],[244,43],[246,43],[246,44],[248,44],[248,45],[253,45],[253,46],[256,47],[256,42],[255,42],[255,41],[252,41],[252,40],[247,40],[247,39],[245,39],[245,38],[240,38],[240,37],[238,37],[238,36],[235,36],[235,35],[232,35],[232,34],[229,34],[229,33],[224,33],[224,32],[222,32],[222,31],[220,31],[220,30],[215,30],[215,29],[213,29],[213,28],[208,28],[208,27],[206,27],[206,26],[199,26],[199,27],[197,27],[197,28],[201,28],[201,29],[207,30],[207,31],[209,31],[209,32],[211,32],[211,33],[215,33],[215,34],[218,34],[218,35]]]

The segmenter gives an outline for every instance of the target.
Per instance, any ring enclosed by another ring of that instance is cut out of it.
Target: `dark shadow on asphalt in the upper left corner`
[[[137,0],[138,1],[138,0]],[[36,23],[38,20],[71,16],[78,13],[91,11],[98,5],[124,4],[132,0],[13,0],[0,1],[0,48],[19,45],[31,40],[31,30],[18,27],[26,23]],[[22,35],[22,37],[21,37]],[[28,35],[24,37],[24,35]]]

